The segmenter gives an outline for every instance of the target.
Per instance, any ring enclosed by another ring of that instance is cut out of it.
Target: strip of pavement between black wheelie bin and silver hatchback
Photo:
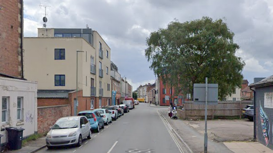
[[[26,146],[16,151],[6,151],[5,153],[35,153],[46,147],[46,137],[39,138],[35,141],[30,141]]]

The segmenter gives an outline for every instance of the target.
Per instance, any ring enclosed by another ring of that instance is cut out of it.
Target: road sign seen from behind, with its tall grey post
[[[194,104],[205,104],[204,153],[207,153],[207,105],[218,104],[218,84],[207,84],[207,77],[205,78],[205,84],[194,84]]]

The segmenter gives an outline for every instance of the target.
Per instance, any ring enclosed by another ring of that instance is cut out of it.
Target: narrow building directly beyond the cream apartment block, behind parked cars
[[[111,61],[111,81],[112,81],[112,105],[120,104],[121,99],[121,75],[118,66]],[[111,105],[111,104],[109,104]]]

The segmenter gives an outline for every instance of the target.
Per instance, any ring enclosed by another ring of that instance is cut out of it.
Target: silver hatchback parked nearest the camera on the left
[[[48,149],[56,146],[82,145],[82,139],[91,139],[90,123],[85,116],[63,117],[56,121],[46,136]]]

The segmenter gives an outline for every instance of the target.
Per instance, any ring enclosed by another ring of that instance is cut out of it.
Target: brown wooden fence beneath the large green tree
[[[223,101],[218,102],[217,105],[207,106],[207,116],[209,118],[226,117],[226,116],[238,116],[242,117],[242,109],[246,105],[253,104],[252,101]],[[196,105],[194,102],[185,102],[184,111],[178,114],[182,119],[200,119],[205,117],[205,104]]]

